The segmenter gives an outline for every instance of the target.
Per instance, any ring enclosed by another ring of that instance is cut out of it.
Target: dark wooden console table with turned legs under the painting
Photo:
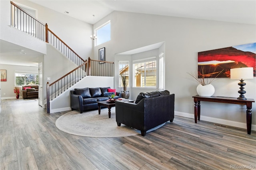
[[[195,114],[195,123],[197,120],[200,121],[200,102],[219,102],[219,103],[228,103],[228,104],[240,104],[246,105],[246,127],[247,127],[247,134],[251,134],[252,128],[252,102],[255,102],[254,99],[247,99],[247,100],[238,100],[237,98],[229,98],[229,97],[220,97],[220,96],[211,96],[211,97],[204,97],[204,96],[193,96],[194,98],[194,114]]]

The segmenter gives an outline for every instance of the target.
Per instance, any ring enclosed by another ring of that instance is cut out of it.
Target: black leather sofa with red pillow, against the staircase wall
[[[80,113],[90,109],[98,109],[97,102],[109,99],[110,93],[108,92],[108,88],[110,87],[75,88],[74,90],[70,90],[71,109],[79,110]],[[120,97],[121,93],[116,92],[114,99]]]

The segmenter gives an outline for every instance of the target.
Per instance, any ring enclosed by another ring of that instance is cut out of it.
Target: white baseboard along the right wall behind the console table
[[[194,119],[194,114],[190,114],[190,113],[174,111],[174,116],[175,115]],[[202,116],[202,115],[200,116],[200,120],[209,121],[212,123],[218,123],[218,124],[222,124],[222,125],[233,126],[233,127],[239,127],[242,129],[247,129],[246,123],[242,123],[242,122],[238,122],[238,121],[230,121],[230,120],[218,119],[218,118]],[[256,131],[256,125],[252,125],[252,131]]]

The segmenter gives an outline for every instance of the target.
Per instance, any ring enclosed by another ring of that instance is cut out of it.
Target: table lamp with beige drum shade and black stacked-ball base
[[[240,82],[238,85],[240,86],[240,96],[237,98],[238,100],[247,100],[244,97],[246,91],[244,90],[244,86],[246,83],[244,79],[252,79],[253,78],[253,67],[241,67],[241,68],[231,68],[230,69],[230,79],[239,79]]]

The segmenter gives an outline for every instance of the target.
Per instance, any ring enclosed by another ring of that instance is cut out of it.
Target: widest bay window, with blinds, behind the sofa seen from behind
[[[156,87],[156,57],[133,61],[134,87]]]

